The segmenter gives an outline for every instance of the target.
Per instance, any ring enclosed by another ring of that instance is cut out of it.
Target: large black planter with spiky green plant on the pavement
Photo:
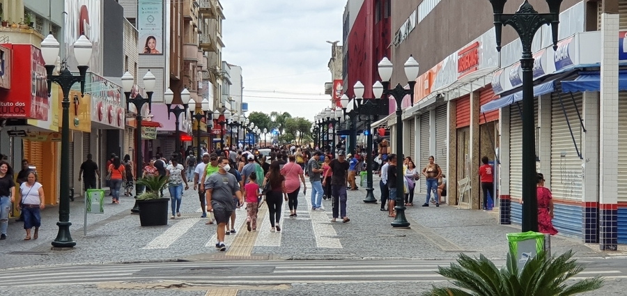
[[[137,185],[146,187],[146,192],[137,196],[139,223],[141,226],[168,224],[169,198],[160,196],[160,191],[167,182],[168,178],[166,176],[147,176],[137,180]]]

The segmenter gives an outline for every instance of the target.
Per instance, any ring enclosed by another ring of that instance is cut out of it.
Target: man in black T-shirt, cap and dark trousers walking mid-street
[[[346,183],[348,182],[348,162],[346,161],[346,154],[344,150],[339,150],[337,153],[337,158],[333,159],[329,166],[332,171],[333,176],[331,176],[331,196],[332,196],[332,205],[333,205],[333,219],[332,222],[336,221],[339,215],[341,215],[342,222],[346,223],[350,221],[348,217],[346,217]],[[329,175],[329,171],[325,173],[325,178]],[[327,180],[324,180],[323,185]]]

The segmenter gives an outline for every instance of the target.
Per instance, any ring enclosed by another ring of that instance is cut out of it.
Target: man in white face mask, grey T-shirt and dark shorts
[[[218,224],[216,228],[218,242],[215,247],[220,251],[226,251],[224,236],[227,230],[226,224],[235,210],[233,196],[237,196],[239,203],[244,203],[244,199],[238,181],[235,176],[228,172],[231,169],[229,159],[220,157],[218,163],[219,170],[217,173],[208,176],[207,182],[205,182],[207,210],[213,211]]]

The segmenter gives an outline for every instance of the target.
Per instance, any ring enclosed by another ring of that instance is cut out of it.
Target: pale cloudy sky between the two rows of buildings
[[[242,67],[249,112],[287,111],[313,121],[330,105],[324,85],[331,81],[331,45],[325,41],[342,40],[346,1],[220,3],[226,17],[222,59]]]

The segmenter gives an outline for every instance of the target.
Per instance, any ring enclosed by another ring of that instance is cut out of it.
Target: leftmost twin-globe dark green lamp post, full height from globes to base
[[[52,91],[52,82],[59,84],[63,91],[63,106],[61,129],[61,176],[59,184],[59,233],[52,242],[53,247],[71,248],[76,245],[70,235],[70,90],[72,86],[79,82],[81,84],[81,95],[85,92],[85,76],[87,75],[87,64],[91,59],[91,42],[81,35],[74,43],[74,56],[78,64],[79,75],[72,75],[65,63],[61,65],[59,75],[53,75],[56,59],[59,58],[59,42],[52,36],[52,32],[41,42],[41,55],[43,57],[47,72],[48,96]]]

